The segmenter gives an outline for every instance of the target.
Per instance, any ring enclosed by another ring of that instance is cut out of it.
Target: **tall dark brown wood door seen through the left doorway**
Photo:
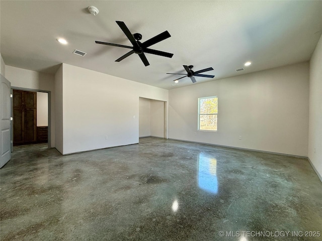
[[[37,92],[13,91],[14,146],[37,141]]]

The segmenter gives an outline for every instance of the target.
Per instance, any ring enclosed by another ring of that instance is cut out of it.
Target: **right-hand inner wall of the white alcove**
[[[165,138],[165,102],[151,99],[151,136]]]

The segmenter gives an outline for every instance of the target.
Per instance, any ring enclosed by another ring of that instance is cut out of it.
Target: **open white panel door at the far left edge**
[[[0,75],[0,168],[11,159],[10,82]]]

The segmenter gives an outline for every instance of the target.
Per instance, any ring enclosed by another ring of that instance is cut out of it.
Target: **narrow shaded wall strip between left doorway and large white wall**
[[[60,153],[63,153],[62,68],[60,65],[55,73],[55,147]]]

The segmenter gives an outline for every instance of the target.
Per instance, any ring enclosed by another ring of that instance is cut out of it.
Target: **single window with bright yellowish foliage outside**
[[[217,131],[217,96],[198,98],[198,130]]]

